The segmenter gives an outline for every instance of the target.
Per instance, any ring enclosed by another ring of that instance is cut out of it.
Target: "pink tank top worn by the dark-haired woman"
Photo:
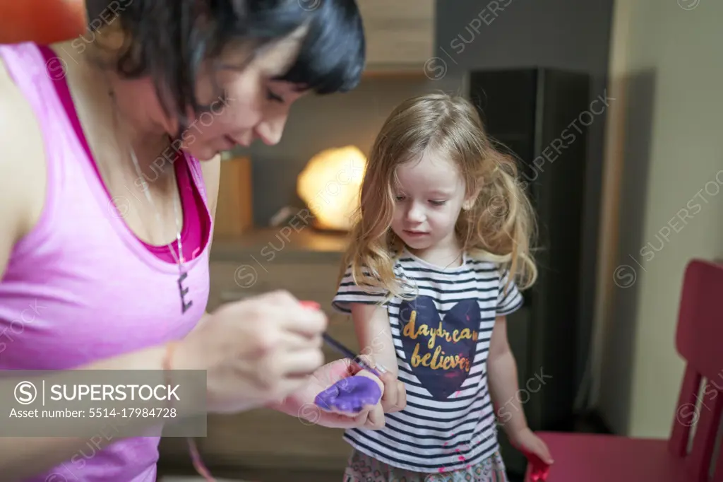
[[[182,313],[170,250],[139,240],[121,216],[124,203],[150,206],[138,189],[111,200],[67,85],[46,69],[52,51],[22,43],[0,46],[0,56],[38,119],[48,173],[40,221],[14,246],[0,281],[0,370],[73,368],[184,337],[208,301],[213,221],[199,162],[187,155],[174,161],[184,211],[185,300],[192,302]],[[27,482],[152,482],[158,441],[124,439],[102,451],[88,441],[72,459]]]

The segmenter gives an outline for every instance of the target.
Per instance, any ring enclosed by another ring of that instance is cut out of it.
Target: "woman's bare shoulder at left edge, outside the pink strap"
[[[43,137],[35,113],[1,57],[0,145],[2,245],[9,236],[13,243],[20,239],[40,218],[45,201],[46,167]]]

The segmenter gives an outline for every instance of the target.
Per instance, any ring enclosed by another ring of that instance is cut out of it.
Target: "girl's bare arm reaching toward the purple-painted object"
[[[397,379],[397,354],[392,338],[387,308],[366,303],[351,303],[351,317],[354,319],[356,339],[359,340],[361,355],[371,358],[386,369],[380,379],[384,384],[382,410],[384,413],[398,412],[406,408],[406,390]]]

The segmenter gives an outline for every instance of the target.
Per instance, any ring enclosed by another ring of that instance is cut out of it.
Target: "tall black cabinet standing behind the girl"
[[[572,430],[580,303],[587,127],[604,105],[590,102],[589,75],[530,68],[470,72],[469,98],[498,148],[518,160],[536,215],[536,284],[508,316],[521,402],[532,430]],[[516,404],[515,404],[516,405]],[[505,408],[506,407],[506,408]],[[497,407],[498,423],[513,405]],[[502,427],[500,427],[502,428]],[[500,430],[510,473],[525,460]]]

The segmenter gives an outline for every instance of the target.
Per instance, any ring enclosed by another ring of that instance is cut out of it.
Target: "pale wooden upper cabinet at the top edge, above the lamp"
[[[434,56],[435,0],[357,0],[367,71],[421,70]]]

